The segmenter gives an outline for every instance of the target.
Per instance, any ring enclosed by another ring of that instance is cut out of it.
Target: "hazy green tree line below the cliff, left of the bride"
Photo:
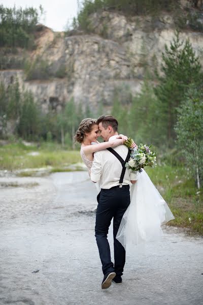
[[[89,106],[75,105],[71,99],[58,113],[46,113],[29,90],[20,90],[18,79],[5,87],[0,84],[0,138],[11,135],[31,141],[56,141],[75,148],[75,132],[84,117],[92,117]]]

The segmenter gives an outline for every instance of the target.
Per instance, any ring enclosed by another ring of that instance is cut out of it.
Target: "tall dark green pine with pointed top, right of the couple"
[[[166,129],[165,137],[169,144],[175,138],[174,125],[177,119],[177,107],[185,99],[185,93],[190,84],[200,85],[203,81],[201,65],[195,55],[192,46],[187,40],[184,44],[180,41],[179,33],[171,42],[170,48],[165,45],[165,53],[162,53],[163,64],[159,77],[159,84],[155,88],[159,108],[162,112],[160,120],[162,128]]]

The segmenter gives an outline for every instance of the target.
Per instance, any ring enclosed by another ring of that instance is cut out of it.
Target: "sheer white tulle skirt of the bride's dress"
[[[172,219],[170,208],[143,169],[136,184],[130,188],[130,205],[116,238],[125,249],[128,245],[144,245],[158,240],[163,235],[161,225]]]

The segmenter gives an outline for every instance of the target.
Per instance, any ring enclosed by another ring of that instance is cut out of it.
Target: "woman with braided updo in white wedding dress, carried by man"
[[[97,120],[83,119],[75,139],[81,143],[81,157],[89,174],[96,151],[116,147],[127,139],[126,136],[119,135],[114,140],[99,143],[98,136]],[[136,144],[133,143],[131,148],[136,149]],[[172,219],[174,216],[170,208],[143,169],[141,173],[138,173],[137,183],[130,187],[130,205],[123,215],[116,238],[125,249],[130,245],[157,240],[163,234],[161,225]]]

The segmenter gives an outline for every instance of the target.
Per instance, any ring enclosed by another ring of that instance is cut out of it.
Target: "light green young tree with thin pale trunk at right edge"
[[[178,108],[175,131],[186,165],[196,177],[197,187],[203,180],[203,92],[192,86],[184,103]]]

